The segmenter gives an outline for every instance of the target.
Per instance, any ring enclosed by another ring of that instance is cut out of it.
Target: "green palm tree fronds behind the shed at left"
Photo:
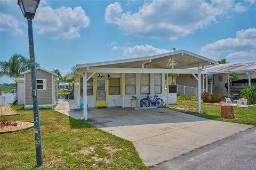
[[[36,63],[36,67],[40,65]],[[9,77],[16,79],[22,72],[30,69],[30,61],[21,54],[14,54],[9,61],[0,61],[0,78]]]

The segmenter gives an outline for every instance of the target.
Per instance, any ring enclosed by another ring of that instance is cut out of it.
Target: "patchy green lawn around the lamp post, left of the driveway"
[[[33,121],[33,111],[13,106],[10,121]],[[4,118],[4,116],[0,116]],[[0,169],[147,169],[132,142],[53,109],[40,109],[43,166],[36,166],[34,128],[0,135]]]

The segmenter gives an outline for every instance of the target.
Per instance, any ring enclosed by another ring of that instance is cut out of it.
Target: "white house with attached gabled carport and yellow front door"
[[[201,89],[201,76],[198,75],[201,75],[204,66],[212,64],[217,62],[187,50],[124,60],[77,64],[72,72],[74,98],[77,107],[83,104],[85,120],[87,120],[87,105],[88,107],[131,107],[132,96],[140,100],[148,93],[162,98],[165,104],[174,104],[177,90],[169,89],[169,80],[165,74],[190,74],[197,80],[197,88]],[[196,69],[193,69],[195,67]],[[166,90],[165,85],[167,85]],[[202,90],[197,90],[199,113],[201,92]]]

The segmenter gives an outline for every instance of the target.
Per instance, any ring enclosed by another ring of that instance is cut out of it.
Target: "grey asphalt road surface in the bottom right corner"
[[[253,128],[157,165],[153,169],[254,170],[256,167],[255,141],[256,128]]]

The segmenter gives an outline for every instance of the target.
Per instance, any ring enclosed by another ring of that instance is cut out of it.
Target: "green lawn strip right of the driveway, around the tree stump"
[[[242,123],[256,126],[256,109],[255,108],[240,108],[234,107],[235,119],[225,119],[221,118],[221,110],[219,105],[207,105],[202,104],[202,113],[198,114],[197,104],[187,103],[180,101],[176,105],[169,105],[171,108],[183,108],[186,111],[189,111],[189,114],[195,116],[200,116],[204,118],[209,118],[215,121],[225,121],[225,122],[234,122]]]

